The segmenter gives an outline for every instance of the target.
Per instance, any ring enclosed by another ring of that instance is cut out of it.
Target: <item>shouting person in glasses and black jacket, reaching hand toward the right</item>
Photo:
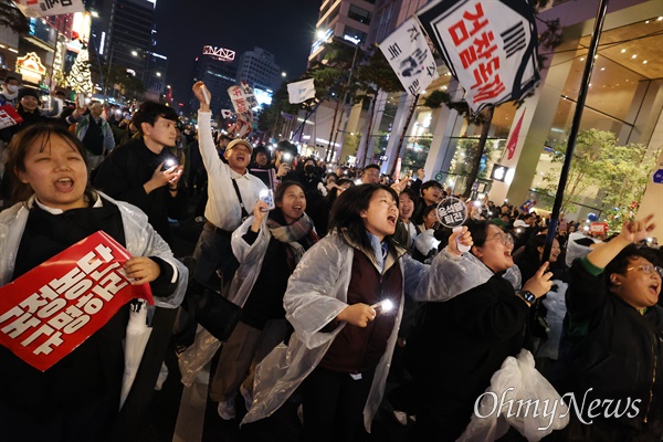
[[[455,217],[453,206],[453,213],[449,209],[439,213],[442,220]],[[519,272],[508,272],[514,267],[511,236],[487,221],[470,221],[462,229],[469,230],[473,245],[461,252],[456,231],[433,261],[428,298],[436,302],[422,307],[422,320],[406,347],[417,386],[417,441],[461,435],[493,373],[520,351],[529,306],[552,284],[544,263],[516,291]]]

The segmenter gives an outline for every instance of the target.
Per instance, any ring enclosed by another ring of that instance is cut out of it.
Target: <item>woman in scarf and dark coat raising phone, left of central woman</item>
[[[282,182],[274,202],[276,208],[267,211],[266,203],[257,201],[253,215],[232,236],[240,267],[229,298],[243,306],[242,318],[223,344],[210,388],[210,398],[219,402],[218,412],[224,420],[235,418],[238,391],[246,409],[251,408],[255,366],[286,337],[283,295],[287,280],[304,252],[318,240],[305,213],[302,185]]]

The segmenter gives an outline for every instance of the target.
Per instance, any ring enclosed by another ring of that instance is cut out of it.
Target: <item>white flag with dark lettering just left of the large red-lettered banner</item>
[[[415,17],[406,20],[379,46],[410,95],[425,91],[440,76],[421,23]]]

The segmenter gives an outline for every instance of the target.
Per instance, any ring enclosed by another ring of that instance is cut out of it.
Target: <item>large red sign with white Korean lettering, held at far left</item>
[[[45,371],[130,299],[152,304],[149,284],[131,285],[123,270],[130,257],[99,231],[0,287],[0,345]]]

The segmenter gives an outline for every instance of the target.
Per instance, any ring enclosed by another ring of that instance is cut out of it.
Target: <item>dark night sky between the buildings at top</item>
[[[236,57],[254,46],[274,54],[287,80],[306,70],[322,0],[157,0],[157,53],[168,56],[166,81],[176,103],[191,90],[193,61],[203,45]]]

